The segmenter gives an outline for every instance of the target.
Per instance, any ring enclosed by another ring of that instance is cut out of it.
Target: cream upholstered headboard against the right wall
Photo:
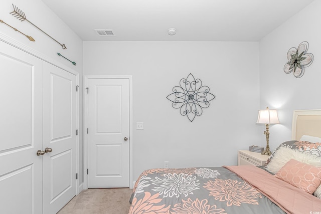
[[[321,109],[294,110],[292,119],[292,140],[302,135],[321,137]]]

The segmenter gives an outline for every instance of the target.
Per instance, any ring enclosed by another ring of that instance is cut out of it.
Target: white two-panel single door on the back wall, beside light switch
[[[88,80],[88,187],[129,187],[129,80]]]

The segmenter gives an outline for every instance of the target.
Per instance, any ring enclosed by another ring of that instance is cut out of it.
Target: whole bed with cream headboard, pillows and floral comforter
[[[130,214],[321,213],[321,110],[293,112],[292,140],[265,166],[149,169]]]

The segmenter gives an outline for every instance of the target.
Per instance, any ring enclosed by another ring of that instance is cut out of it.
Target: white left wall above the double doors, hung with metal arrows
[[[65,44],[67,49],[62,47],[32,26],[27,21],[19,21],[10,14],[13,6],[21,9],[27,19],[49,34],[61,44]],[[14,41],[22,48],[32,51],[38,56],[56,64],[64,69],[78,72],[80,75],[80,88],[82,88],[82,40],[59,18],[57,17],[41,0],[2,0],[0,6],[0,19],[18,29],[28,36],[32,36],[36,41],[31,42],[27,37],[14,31],[12,28],[0,23],[0,38],[7,41]],[[74,66],[71,62],[57,55],[62,54],[71,61],[76,62]],[[82,91],[80,91],[80,176],[79,183],[83,182],[83,137],[82,137]]]

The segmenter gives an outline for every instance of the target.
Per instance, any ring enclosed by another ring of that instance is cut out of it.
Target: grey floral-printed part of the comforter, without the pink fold
[[[146,170],[130,203],[130,214],[285,213],[225,167]]]

